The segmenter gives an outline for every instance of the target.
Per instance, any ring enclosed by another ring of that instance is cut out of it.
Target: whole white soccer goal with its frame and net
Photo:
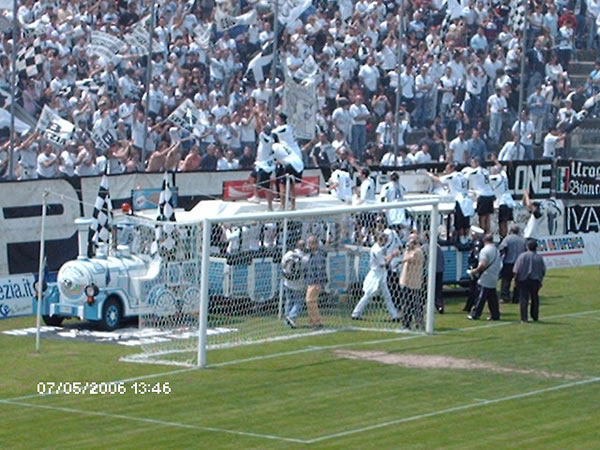
[[[205,367],[212,349],[432,333],[438,216],[432,197],[171,223],[141,293],[148,339],[127,360]]]

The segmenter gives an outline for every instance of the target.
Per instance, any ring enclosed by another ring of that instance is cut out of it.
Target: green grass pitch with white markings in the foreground
[[[119,362],[135,349],[117,345],[45,339],[36,354],[33,338],[0,333],[0,448],[598,448],[599,275],[550,271],[539,323],[520,324],[518,305],[501,305],[501,322],[470,322],[455,297],[433,336],[215,350],[206,370]],[[33,324],[0,321],[0,332]],[[405,367],[341,350],[482,365]],[[135,394],[127,381],[123,395],[36,394],[39,382],[132,379],[171,392]]]

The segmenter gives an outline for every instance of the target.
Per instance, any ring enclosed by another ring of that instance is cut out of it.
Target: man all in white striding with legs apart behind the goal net
[[[398,310],[392,301],[392,294],[387,284],[387,265],[400,254],[399,250],[386,251],[388,236],[380,233],[377,242],[371,247],[369,253],[369,273],[363,282],[363,296],[352,311],[352,319],[361,320],[361,314],[371,299],[380,292],[385,306],[390,313],[392,321],[397,322]]]

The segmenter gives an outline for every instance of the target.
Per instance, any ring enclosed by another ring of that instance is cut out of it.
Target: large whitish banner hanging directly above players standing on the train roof
[[[292,77],[286,76],[283,88],[283,111],[296,131],[296,138],[313,139],[317,127],[315,83],[300,85]]]

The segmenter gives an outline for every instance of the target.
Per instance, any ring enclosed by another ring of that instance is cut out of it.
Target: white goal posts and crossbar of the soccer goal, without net
[[[400,202],[366,204],[359,206],[348,207],[331,207],[318,210],[307,209],[299,211],[269,211],[252,214],[237,214],[219,217],[205,217],[202,219],[202,255],[200,268],[200,304],[199,304],[199,320],[198,320],[198,355],[197,365],[199,368],[207,367],[207,328],[208,328],[208,304],[209,304],[209,270],[210,270],[210,238],[213,224],[225,224],[240,221],[265,220],[270,218],[284,220],[284,235],[287,230],[287,221],[289,219],[299,219],[310,214],[312,217],[327,216],[331,214],[344,213],[360,213],[372,211],[374,207],[377,210],[385,211],[388,209],[411,208],[419,206],[430,206],[431,217],[429,221],[429,259],[428,275],[427,275],[427,299],[425,311],[425,332],[433,334],[434,313],[435,313],[435,273],[437,261],[437,236],[439,227],[439,203],[440,199],[436,196],[431,196],[426,199],[406,200]],[[284,239],[285,245],[285,239]],[[285,248],[283,251],[285,252]]]

